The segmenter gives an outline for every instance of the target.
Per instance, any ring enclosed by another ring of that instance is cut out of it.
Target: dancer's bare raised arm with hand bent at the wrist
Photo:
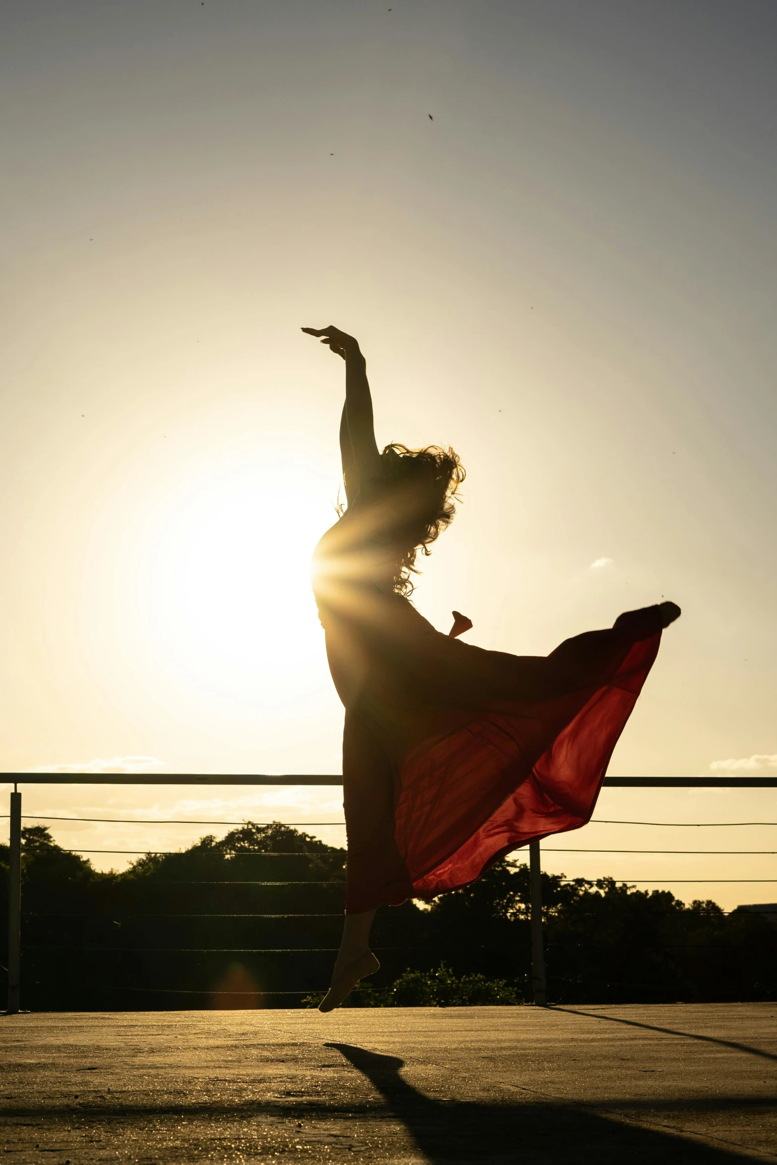
[[[303,332],[320,337],[322,344],[327,344],[332,352],[345,360],[345,408],[340,421],[340,452],[346,497],[351,503],[358,493],[369,488],[370,481],[383,475],[381,456],[375,442],[367,362],[356,340],[341,332],[339,327],[303,327]],[[348,476],[354,475],[355,481],[349,482]]]

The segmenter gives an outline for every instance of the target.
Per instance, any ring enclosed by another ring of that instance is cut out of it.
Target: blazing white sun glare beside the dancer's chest
[[[288,460],[225,464],[167,497],[147,537],[141,623],[188,686],[264,702],[322,661],[312,550],[335,518]]]

